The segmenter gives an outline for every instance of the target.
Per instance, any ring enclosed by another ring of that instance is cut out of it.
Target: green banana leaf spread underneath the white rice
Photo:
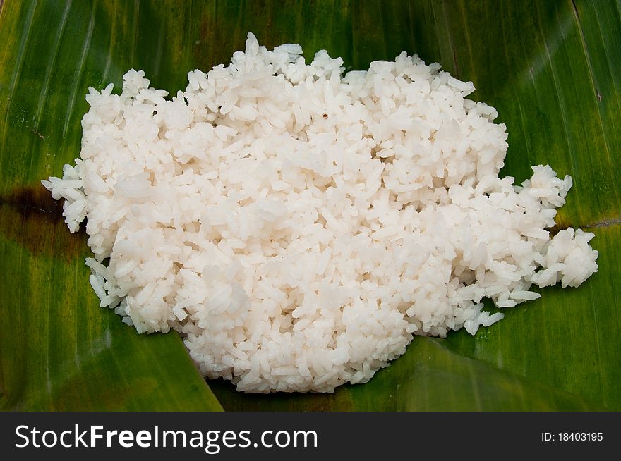
[[[502,175],[550,164],[574,178],[555,230],[596,233],[599,272],[474,337],[414,338],[334,394],[205,383],[176,333],[141,336],[97,307],[85,234],[68,233],[39,181],[78,156],[89,86],[142,68],[176,92],[248,31],[351,69],[406,50],[473,81],[510,133]],[[0,409],[621,410],[618,2],[0,0],[0,44]]]

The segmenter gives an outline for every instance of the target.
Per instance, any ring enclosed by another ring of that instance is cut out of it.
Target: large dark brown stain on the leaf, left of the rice
[[[84,226],[70,233],[63,216],[63,201],[56,202],[42,185],[18,186],[0,195],[0,234],[33,254],[71,261],[84,254]]]

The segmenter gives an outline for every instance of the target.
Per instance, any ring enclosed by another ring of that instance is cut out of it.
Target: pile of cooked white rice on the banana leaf
[[[505,125],[471,82],[405,52],[346,75],[301,53],[248,34],[171,100],[143,71],[90,88],[80,159],[43,184],[71,232],[88,218],[102,307],[179,331],[239,391],[332,392],[413,335],[502,319],[483,297],[512,307],[597,271],[592,233],[545,230],[569,176],[498,177]]]

